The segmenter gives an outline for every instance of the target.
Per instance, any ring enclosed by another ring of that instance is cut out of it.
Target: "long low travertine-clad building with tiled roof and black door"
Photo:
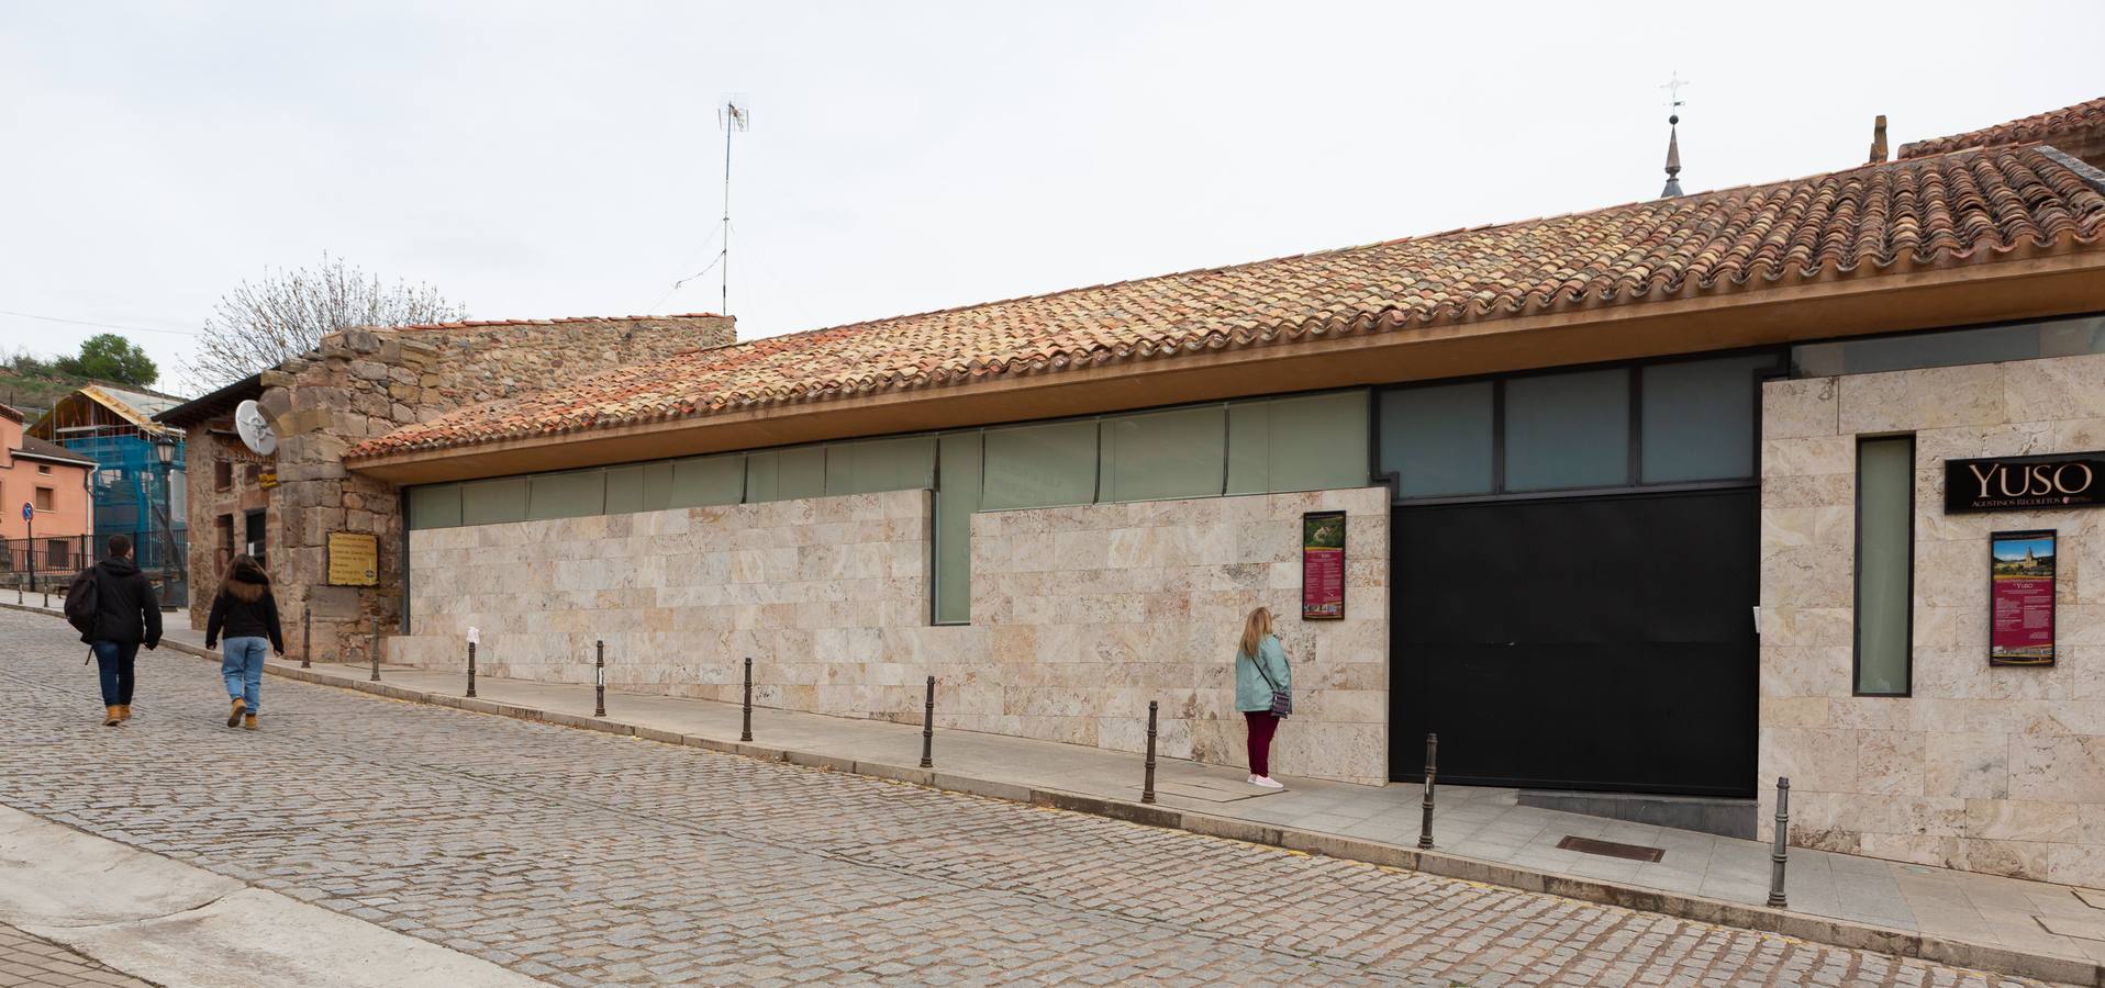
[[[2105,469],[2105,172],[2063,147],[2105,122],[2027,120],[404,404],[299,467],[345,523],[404,505],[358,599],[392,662],[474,626],[495,675],[604,641],[615,689],[730,700],[749,656],[762,704],[886,719],[937,675],[945,727],[1114,750],[1156,700],[1240,763],[1267,605],[1282,774],[1410,782],[1438,732],[1446,782],[1743,835],[1791,776],[1802,845],[2101,885],[2105,496],[1947,483]],[[1991,586],[2006,530],[2059,540],[2048,593]]]

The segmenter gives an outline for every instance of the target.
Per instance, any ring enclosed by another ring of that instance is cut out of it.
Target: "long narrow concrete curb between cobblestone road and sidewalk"
[[[15,608],[15,605],[0,603],[0,608]],[[19,608],[19,610],[48,614],[38,608]],[[162,641],[162,643],[177,652],[192,654],[198,658],[208,658],[208,660],[219,658],[202,647],[187,645],[181,641]],[[1320,853],[1326,858],[1341,858],[1351,862],[1379,864],[1387,868],[1438,874],[1444,879],[1461,879],[1484,885],[1503,885],[1522,891],[1539,891],[1581,902],[1596,902],[1604,906],[1621,906],[1640,912],[1657,912],[1676,919],[1690,919],[1697,923],[1711,923],[1720,927],[1758,929],[1764,933],[1779,933],[1815,944],[1829,944],[1852,950],[1873,950],[1880,954],[1913,956],[1953,967],[1972,967],[1981,971],[2038,977],[2046,982],[2105,988],[2105,965],[2092,961],[2080,961],[2054,954],[2036,954],[1991,944],[1945,940],[1905,929],[1852,923],[1846,919],[1827,919],[1806,912],[1777,910],[1768,906],[1747,906],[1739,902],[1709,900],[1701,896],[1684,896],[1676,891],[1646,889],[1612,881],[1547,874],[1528,868],[1516,868],[1511,864],[1501,864],[1501,862],[1461,858],[1438,849],[1421,851],[1417,847],[1402,847],[1383,841],[1326,835],[1318,830],[1297,830],[1290,826],[1255,824],[1248,820],[1234,820],[1234,818],[1200,814],[1189,809],[1172,809],[1149,803],[1132,803],[1124,799],[1095,797],[1086,793],[1067,793],[1057,788],[1025,786],[1017,782],[956,776],[941,769],[924,769],[924,767],[893,765],[880,761],[844,759],[836,755],[819,755],[791,748],[775,748],[760,742],[705,738],[699,734],[674,734],[653,727],[636,727],[606,717],[585,717],[560,711],[543,711],[537,706],[432,694],[423,689],[406,689],[385,681],[373,683],[364,679],[326,675],[312,668],[286,668],[286,666],[265,664],[265,671],[303,683],[333,685],[339,689],[358,689],[366,694],[385,696],[392,700],[450,706],[457,711],[486,713],[495,717],[552,723],[560,727],[577,727],[587,732],[636,736],[663,744],[684,744],[688,748],[743,755],[749,759],[783,761],[791,765],[806,765],[853,776],[869,776],[893,782],[907,782],[916,786],[941,788],[947,793],[964,793],[975,797],[1004,799],[1010,803],[1029,803],[1050,809],[1067,809],[1076,814],[1103,816],[1111,820],[1162,826],[1170,830],[1187,830],[1194,835],[1225,837],[1231,841],[1284,847],[1290,851]]]

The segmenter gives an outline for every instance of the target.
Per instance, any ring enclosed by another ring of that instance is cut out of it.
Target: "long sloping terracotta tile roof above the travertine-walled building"
[[[2105,174],[2036,145],[1964,151],[701,349],[408,425],[347,458],[2099,240]]]

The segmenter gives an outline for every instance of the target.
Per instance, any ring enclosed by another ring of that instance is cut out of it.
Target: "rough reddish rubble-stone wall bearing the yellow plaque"
[[[373,622],[396,633],[400,492],[343,469],[343,450],[476,402],[735,341],[720,315],[345,330],[263,372],[280,448],[269,492],[272,570],[286,626],[314,612],[316,656],[366,660]],[[326,586],[328,534],[379,536],[379,586]]]

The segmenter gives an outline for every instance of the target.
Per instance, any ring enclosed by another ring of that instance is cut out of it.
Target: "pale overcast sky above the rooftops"
[[[333,252],[739,336],[1861,164],[2105,95],[2105,4],[0,2],[0,347],[173,370]],[[194,383],[164,376],[164,387]]]

